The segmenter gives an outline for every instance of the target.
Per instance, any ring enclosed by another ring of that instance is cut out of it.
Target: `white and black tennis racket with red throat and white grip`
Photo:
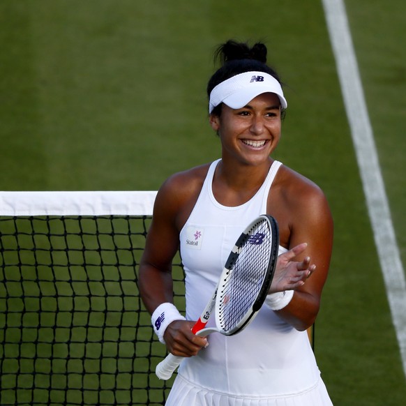
[[[216,290],[193,326],[193,333],[201,337],[213,332],[232,336],[245,329],[268,294],[278,249],[278,223],[272,216],[264,214],[250,223],[232,248]],[[204,328],[213,310],[216,327]],[[168,354],[156,366],[156,375],[170,379],[182,360],[182,356]]]

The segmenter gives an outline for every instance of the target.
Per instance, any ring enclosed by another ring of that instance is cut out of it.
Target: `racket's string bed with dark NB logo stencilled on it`
[[[234,329],[252,308],[261,291],[269,264],[272,234],[266,221],[247,234],[234,266],[220,286],[220,328]]]

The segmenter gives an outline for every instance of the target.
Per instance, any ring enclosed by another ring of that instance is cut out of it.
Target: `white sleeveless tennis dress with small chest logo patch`
[[[216,287],[236,238],[260,214],[280,163],[275,161],[255,196],[241,206],[219,204],[211,188],[213,162],[180,234],[186,271],[186,318],[197,320]],[[285,252],[280,247],[280,253]],[[209,321],[209,326],[213,320]],[[332,405],[306,331],[297,331],[263,306],[236,336],[209,336],[209,347],[179,367],[166,405]]]

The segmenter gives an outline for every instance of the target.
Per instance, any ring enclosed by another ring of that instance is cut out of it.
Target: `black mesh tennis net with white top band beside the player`
[[[0,193],[1,405],[163,405],[137,271],[155,192]],[[174,294],[184,310],[183,269]]]

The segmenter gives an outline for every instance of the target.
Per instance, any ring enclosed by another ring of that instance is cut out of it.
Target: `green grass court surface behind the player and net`
[[[345,4],[406,264],[406,3]],[[213,49],[264,40],[289,103],[276,158],[323,188],[336,224],[316,327],[322,377],[334,405],[405,402],[321,1],[2,0],[0,27],[0,190],[156,190],[218,158]]]

